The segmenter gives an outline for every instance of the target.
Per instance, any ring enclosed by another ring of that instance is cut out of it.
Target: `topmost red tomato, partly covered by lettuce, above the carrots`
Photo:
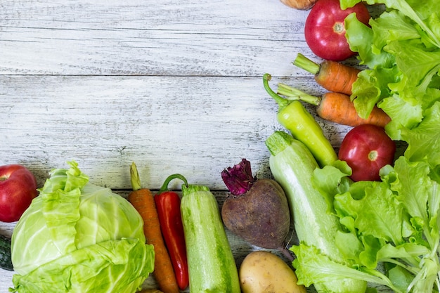
[[[304,27],[306,42],[316,56],[342,61],[356,54],[350,50],[344,26],[344,19],[353,12],[358,20],[365,25],[368,24],[370,13],[362,2],[345,10],[341,9],[339,0],[316,2],[307,16]]]

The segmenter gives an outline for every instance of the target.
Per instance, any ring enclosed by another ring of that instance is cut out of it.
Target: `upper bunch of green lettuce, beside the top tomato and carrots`
[[[341,0],[343,7],[358,1]],[[365,70],[353,84],[356,110],[367,117],[377,104],[391,117],[387,134],[408,143],[406,157],[440,165],[440,7],[437,1],[367,1],[387,11],[370,27],[352,15],[347,40]]]

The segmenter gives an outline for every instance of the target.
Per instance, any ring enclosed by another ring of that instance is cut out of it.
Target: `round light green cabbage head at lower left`
[[[154,269],[143,220],[124,197],[89,183],[76,162],[54,169],[15,226],[19,293],[133,293]]]

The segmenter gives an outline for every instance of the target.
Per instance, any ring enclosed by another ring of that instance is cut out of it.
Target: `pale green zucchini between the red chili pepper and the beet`
[[[181,216],[190,292],[240,293],[237,265],[209,188],[182,185]]]

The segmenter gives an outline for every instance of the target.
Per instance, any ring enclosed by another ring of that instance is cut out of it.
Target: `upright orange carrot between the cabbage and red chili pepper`
[[[129,194],[128,200],[143,219],[143,233],[145,233],[146,242],[154,246],[155,269],[153,275],[162,292],[179,293],[176,275],[174,275],[172,262],[160,231],[159,216],[157,216],[153,193],[147,188],[141,188],[138,170],[134,163],[131,164],[130,174],[133,191]]]

